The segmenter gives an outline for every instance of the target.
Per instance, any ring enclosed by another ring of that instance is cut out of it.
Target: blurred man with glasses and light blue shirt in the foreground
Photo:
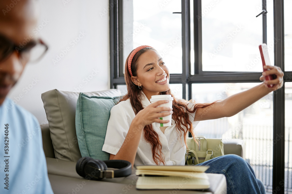
[[[53,193],[36,118],[7,98],[48,47],[34,36],[38,1],[0,1],[0,193]]]

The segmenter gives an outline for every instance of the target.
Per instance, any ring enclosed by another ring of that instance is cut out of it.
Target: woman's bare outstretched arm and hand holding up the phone
[[[284,73],[277,66],[264,66],[265,69],[270,69],[263,72],[260,77],[264,83],[259,84],[249,90],[234,94],[222,101],[218,101],[205,108],[198,108],[194,121],[218,119],[222,117],[233,116],[243,109],[247,108],[251,104],[255,103],[271,91],[277,90],[283,86]],[[266,81],[265,76],[275,74],[276,79]],[[268,88],[267,85],[274,84],[272,88]]]

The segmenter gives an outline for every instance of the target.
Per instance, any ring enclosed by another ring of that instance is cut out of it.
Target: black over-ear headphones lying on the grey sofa
[[[107,168],[118,168],[118,170],[107,170]],[[83,157],[77,161],[76,171],[81,177],[99,181],[103,178],[131,175],[132,164],[126,160],[101,161],[90,157]]]

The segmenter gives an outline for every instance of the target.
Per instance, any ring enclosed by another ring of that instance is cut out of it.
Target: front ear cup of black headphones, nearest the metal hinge
[[[84,166],[85,176],[90,177],[91,180],[101,180],[104,177],[100,177],[100,170],[107,170],[107,165],[98,159],[92,159]]]

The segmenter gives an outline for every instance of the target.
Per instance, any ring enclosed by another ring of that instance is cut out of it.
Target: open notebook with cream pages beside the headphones
[[[137,189],[206,189],[208,166],[136,166]]]

